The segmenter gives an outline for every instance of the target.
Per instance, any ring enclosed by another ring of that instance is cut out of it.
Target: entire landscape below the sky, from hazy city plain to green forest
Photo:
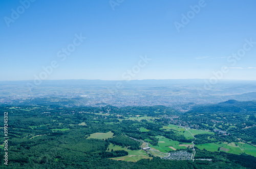
[[[1,82],[9,166],[253,168],[256,83],[181,81],[131,81],[116,93],[115,81]]]

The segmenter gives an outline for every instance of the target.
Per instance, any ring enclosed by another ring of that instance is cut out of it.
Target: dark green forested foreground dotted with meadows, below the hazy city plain
[[[254,168],[255,103],[210,106],[2,106],[1,168]],[[193,160],[163,158],[181,150]]]

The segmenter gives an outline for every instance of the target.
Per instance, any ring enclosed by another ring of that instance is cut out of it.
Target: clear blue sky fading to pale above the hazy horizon
[[[255,11],[253,0],[2,0],[0,80],[128,80],[129,70],[132,80],[209,79],[221,67],[222,79],[256,80]],[[189,22],[177,31],[184,15]],[[80,44],[61,60],[74,40]],[[244,45],[236,64],[227,60]],[[145,56],[151,60],[141,66]],[[58,66],[47,73],[52,61]]]

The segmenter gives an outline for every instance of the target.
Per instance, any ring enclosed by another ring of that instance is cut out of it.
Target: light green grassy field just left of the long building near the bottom
[[[127,156],[111,158],[113,160],[122,160],[122,161],[136,162],[136,161],[138,161],[140,159],[144,159],[144,158],[152,159],[152,157],[148,156],[148,154],[144,150],[129,150],[127,148],[122,148],[120,146],[114,146],[112,143],[110,143],[109,151],[111,151],[112,149],[113,149],[113,151],[124,150],[124,151],[127,151],[128,154],[129,154]]]

